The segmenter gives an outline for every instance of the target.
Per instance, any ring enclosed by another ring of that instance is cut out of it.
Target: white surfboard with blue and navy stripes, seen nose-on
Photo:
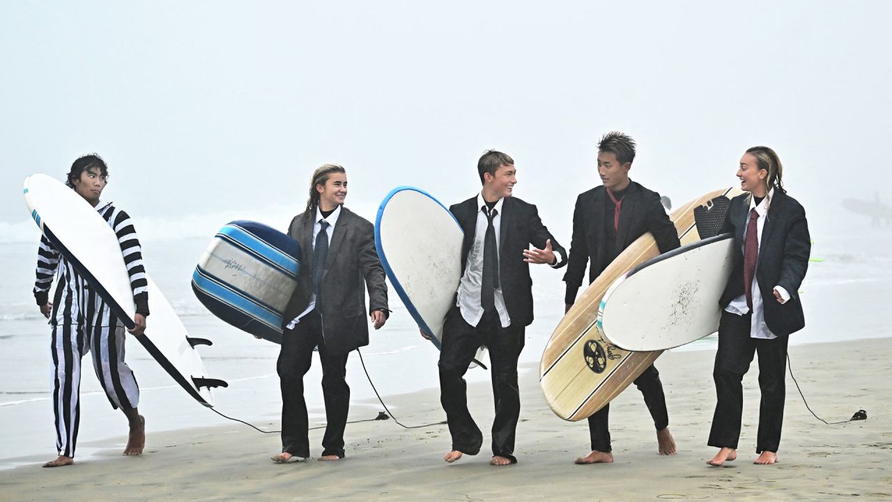
[[[263,223],[229,222],[195,266],[192,290],[224,322],[282,343],[282,316],[300,268],[293,238]]]

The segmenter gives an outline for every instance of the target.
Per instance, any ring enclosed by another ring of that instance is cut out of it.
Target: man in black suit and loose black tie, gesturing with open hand
[[[480,157],[477,172],[483,183],[480,194],[450,206],[465,238],[463,273],[443,326],[439,362],[440,399],[452,437],[443,460],[476,455],[483,446],[483,433],[467,409],[464,375],[477,347],[486,346],[496,409],[490,464],[508,465],[517,462],[517,358],[524,347],[524,329],[533,322],[529,264],[560,268],[566,264],[566,251],[542,224],[536,206],[512,197],[517,179],[511,157],[489,150]],[[530,244],[533,249],[528,249]]]

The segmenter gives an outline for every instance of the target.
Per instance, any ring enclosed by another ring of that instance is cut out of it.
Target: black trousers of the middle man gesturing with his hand
[[[458,306],[446,315],[440,351],[440,402],[452,436],[452,449],[476,455],[483,446],[483,433],[467,409],[465,372],[477,347],[490,351],[492,398],[492,455],[504,456],[512,463],[517,419],[520,417],[520,391],[517,389],[517,357],[524,348],[524,328],[502,328],[499,314],[483,314],[476,326],[461,316]]]

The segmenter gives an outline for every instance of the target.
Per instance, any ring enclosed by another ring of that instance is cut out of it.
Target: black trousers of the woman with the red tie
[[[719,347],[715,353],[715,414],[709,431],[708,445],[716,448],[737,448],[740,421],[743,415],[743,375],[747,374],[753,356],[759,354],[759,431],[756,453],[777,452],[783,426],[783,405],[786,396],[787,342],[776,339],[750,338],[751,315],[722,313],[719,322]]]

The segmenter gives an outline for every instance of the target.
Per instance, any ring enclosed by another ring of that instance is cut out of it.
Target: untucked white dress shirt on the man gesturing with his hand
[[[492,209],[496,211],[495,217],[492,218],[492,226],[496,231],[496,254],[500,260],[501,243],[499,230],[501,229],[502,203],[504,202],[505,199],[500,198],[496,205],[492,206]],[[477,224],[474,244],[471,245],[471,249],[467,253],[465,273],[461,276],[461,281],[458,283],[458,300],[456,305],[458,305],[458,310],[461,311],[461,316],[465,319],[465,322],[471,326],[476,326],[483,317],[483,306],[480,305],[480,294],[483,289],[483,244],[486,238],[486,227],[489,224],[486,213],[483,212],[484,207],[486,207],[486,201],[483,200],[483,192],[481,192],[477,195]],[[558,251],[555,251],[555,254],[558,255],[556,264],[561,263],[563,255],[560,255]],[[517,259],[523,260],[524,257],[517,256]],[[505,296],[502,294],[501,285],[502,280],[500,277],[499,288],[495,290],[496,312],[499,313],[499,321],[502,328],[508,328],[511,325],[511,318],[508,316],[508,309],[505,307]]]

